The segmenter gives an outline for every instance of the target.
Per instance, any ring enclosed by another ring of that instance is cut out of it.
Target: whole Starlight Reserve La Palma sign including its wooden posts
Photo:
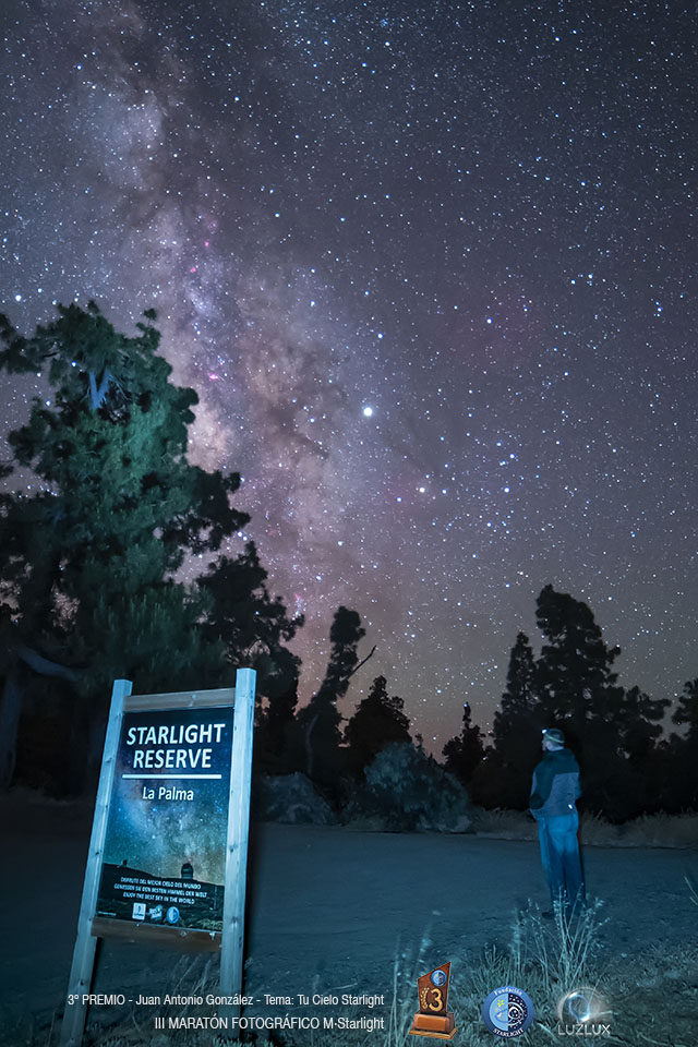
[[[98,937],[220,949],[221,995],[240,992],[254,685],[249,669],[234,690],[115,682],[62,1047],[82,1042]]]

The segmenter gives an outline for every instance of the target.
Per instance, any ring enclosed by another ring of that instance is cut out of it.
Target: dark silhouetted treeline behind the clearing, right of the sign
[[[541,732],[557,726],[580,763],[582,808],[616,822],[660,810],[698,809],[698,679],[685,685],[672,715],[687,730],[666,737],[661,721],[669,699],[617,684],[612,666],[621,652],[606,647],[586,603],[545,586],[537,601],[537,622],[544,638],[540,655],[519,633],[491,734],[472,723],[466,705],[460,734],[444,746],[443,766],[471,801],[526,809],[531,774],[542,756]],[[333,630],[335,663],[341,651],[344,664],[356,665],[363,633],[356,612],[340,609]],[[341,678],[348,682],[348,675]],[[333,686],[328,671],[321,690],[297,715],[289,703],[281,712],[276,701],[269,702],[257,727],[258,768],[272,774],[301,770],[326,795],[346,795],[381,750],[411,743],[404,702],[388,697],[384,676],[374,679],[342,733],[337,698],[345,690]],[[426,759],[421,738],[416,745]]]

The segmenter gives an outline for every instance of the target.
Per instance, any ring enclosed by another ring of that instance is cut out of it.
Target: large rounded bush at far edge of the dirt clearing
[[[470,826],[468,794],[423,748],[386,746],[365,769],[366,785],[351,814],[380,816],[396,832],[465,832]]]

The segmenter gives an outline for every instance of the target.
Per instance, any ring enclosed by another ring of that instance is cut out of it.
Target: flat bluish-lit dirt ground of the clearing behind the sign
[[[83,807],[0,801],[3,1044],[57,1042],[48,1031],[64,1004],[88,833]],[[631,968],[636,951],[687,940],[697,920],[684,877],[698,874],[698,851],[587,847],[583,857],[610,955]],[[506,947],[517,907],[547,903],[533,843],[278,825],[252,828],[248,895],[245,991],[385,994],[388,1004],[396,949],[426,938],[424,971],[447,960],[467,971],[488,943]],[[203,956],[107,941],[95,989],[186,992],[205,973]],[[207,976],[213,986],[215,970]],[[109,1025],[124,1009],[98,1018]]]

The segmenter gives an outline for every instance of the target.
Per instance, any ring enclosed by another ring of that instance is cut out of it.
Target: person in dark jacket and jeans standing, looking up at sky
[[[557,727],[543,731],[543,759],[533,771],[529,808],[538,822],[538,838],[545,879],[550,887],[553,910],[555,902],[569,915],[585,904],[585,884],[577,830],[579,816],[575,806],[580,795],[579,765],[565,748],[565,738]]]

